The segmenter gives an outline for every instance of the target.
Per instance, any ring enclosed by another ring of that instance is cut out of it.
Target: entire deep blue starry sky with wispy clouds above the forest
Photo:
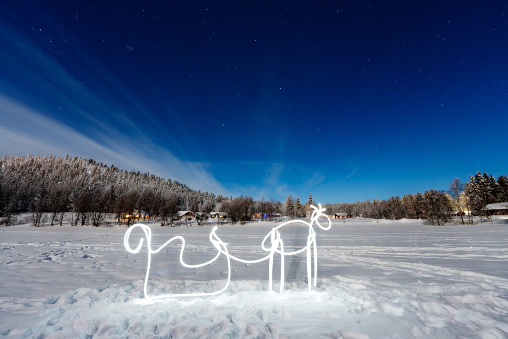
[[[508,3],[0,5],[0,153],[352,202],[507,173]]]

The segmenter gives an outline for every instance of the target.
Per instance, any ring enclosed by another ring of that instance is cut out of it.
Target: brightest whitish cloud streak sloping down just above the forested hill
[[[202,164],[181,161],[160,147],[147,152],[146,140],[114,133],[104,136],[104,143],[98,142],[1,95],[0,113],[8,122],[0,125],[0,151],[4,154],[93,158],[120,168],[162,175],[202,191],[228,194]]]

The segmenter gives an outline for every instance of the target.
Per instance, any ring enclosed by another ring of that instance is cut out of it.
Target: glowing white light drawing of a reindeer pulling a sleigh
[[[129,237],[131,235],[131,232],[136,227],[139,227],[143,230],[145,237],[146,237],[146,244],[147,244],[147,248],[148,248],[148,263],[146,266],[146,274],[145,274],[145,282],[144,282],[144,295],[145,295],[145,299],[147,301],[155,300],[155,299],[162,299],[162,298],[171,298],[171,297],[207,296],[207,295],[215,295],[215,294],[222,293],[228,288],[228,286],[231,282],[231,260],[236,260],[238,262],[247,263],[247,264],[255,264],[255,263],[259,263],[259,262],[268,260],[269,261],[269,272],[268,272],[269,291],[272,291],[273,258],[275,256],[275,254],[280,255],[280,292],[282,292],[284,290],[284,257],[291,256],[291,255],[297,255],[299,253],[303,253],[304,251],[306,251],[306,257],[307,257],[306,258],[307,259],[307,282],[308,282],[309,290],[311,290],[312,289],[312,287],[311,287],[311,281],[312,281],[311,280],[311,278],[312,278],[311,257],[312,257],[312,254],[314,255],[313,285],[316,286],[316,284],[317,284],[316,233],[315,233],[312,225],[315,223],[318,227],[320,227],[321,229],[326,231],[326,230],[330,229],[330,227],[332,226],[332,222],[331,222],[330,218],[328,217],[328,215],[323,213],[326,209],[321,207],[321,204],[319,204],[319,207],[315,207],[313,205],[311,205],[310,207],[312,207],[314,209],[312,211],[310,223],[303,221],[303,220],[291,220],[291,221],[287,221],[277,227],[274,227],[270,232],[268,232],[268,234],[263,238],[263,241],[261,242],[261,248],[264,251],[269,252],[269,253],[265,257],[256,259],[256,260],[244,260],[244,259],[240,259],[236,256],[231,255],[228,252],[228,244],[226,242],[222,241],[215,233],[217,230],[217,226],[213,227],[212,231],[210,232],[210,236],[209,236],[210,242],[212,243],[214,248],[217,250],[217,255],[213,259],[211,259],[207,262],[204,262],[202,264],[189,265],[183,261],[183,251],[185,249],[185,239],[182,236],[172,237],[171,239],[166,241],[163,245],[161,245],[159,248],[152,250],[152,248],[151,248],[151,240],[152,240],[151,230],[148,226],[143,225],[143,224],[135,224],[132,227],[130,227],[127,230],[127,232],[125,232],[125,235],[123,236],[123,245],[125,246],[125,249],[127,251],[129,251],[130,253],[133,253],[133,254],[139,253],[141,251],[141,246],[143,245],[144,238],[141,238],[139,240],[138,246],[135,249],[132,249],[131,245],[129,244]],[[320,222],[317,220],[320,217],[325,217],[328,220],[327,227],[323,227],[320,224]],[[297,251],[285,252],[284,251],[284,243],[280,237],[280,232],[278,231],[278,229],[280,229],[281,227],[284,227],[285,225],[296,224],[296,223],[303,223],[306,226],[308,226],[309,235],[307,236],[307,244],[303,248],[301,248]],[[270,239],[270,246],[267,246],[268,239]],[[151,255],[160,252],[166,245],[168,245],[170,242],[175,241],[175,240],[180,240],[182,242],[181,249],[180,249],[180,263],[182,266],[187,267],[187,268],[198,268],[198,267],[203,267],[203,266],[209,265],[209,264],[213,263],[214,261],[216,261],[221,254],[225,255],[226,259],[228,261],[228,281],[226,283],[226,286],[218,291],[215,291],[215,292],[162,294],[162,295],[157,295],[157,296],[148,295],[147,284],[148,284],[148,276],[150,275]]]

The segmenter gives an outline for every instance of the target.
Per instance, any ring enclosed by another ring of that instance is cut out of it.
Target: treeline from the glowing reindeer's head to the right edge
[[[485,205],[508,201],[508,177],[478,171],[463,184],[455,178],[449,190],[425,191],[423,194],[406,194],[402,198],[392,196],[388,200],[367,200],[354,203],[327,204],[328,213],[351,213],[363,218],[374,219],[428,219],[430,223],[441,225],[451,220],[452,211],[468,210],[466,221],[472,223],[473,215],[485,215]],[[461,217],[462,218],[462,217]],[[462,223],[465,223],[462,218]]]

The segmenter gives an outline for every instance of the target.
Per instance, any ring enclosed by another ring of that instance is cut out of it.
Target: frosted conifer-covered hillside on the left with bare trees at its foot
[[[0,217],[6,225],[20,212],[32,212],[35,226],[43,213],[50,212],[51,225],[61,225],[63,214],[74,212],[73,225],[98,226],[106,213],[114,213],[121,223],[122,215],[136,209],[165,223],[178,210],[209,211],[223,200],[227,198],[92,159],[30,155],[0,159]]]

